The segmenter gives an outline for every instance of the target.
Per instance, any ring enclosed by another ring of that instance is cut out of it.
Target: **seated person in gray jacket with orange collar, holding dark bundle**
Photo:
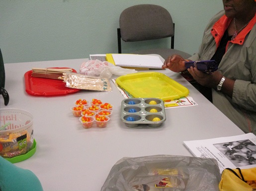
[[[163,68],[189,73],[196,82],[191,84],[230,120],[256,134],[256,0],[223,0],[223,5],[207,25],[198,53],[187,60],[171,55]],[[218,70],[186,70],[188,60],[215,60]]]

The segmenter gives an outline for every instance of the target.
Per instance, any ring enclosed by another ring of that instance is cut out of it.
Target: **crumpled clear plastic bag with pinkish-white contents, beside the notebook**
[[[107,79],[110,79],[112,74],[122,76],[137,72],[133,69],[121,68],[119,66],[114,66],[110,62],[100,60],[88,60],[83,62],[79,71],[80,74]]]

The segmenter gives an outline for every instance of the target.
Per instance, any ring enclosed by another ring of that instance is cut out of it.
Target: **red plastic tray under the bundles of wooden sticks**
[[[55,67],[56,68],[56,67]],[[73,69],[73,72],[77,72]],[[80,91],[67,88],[62,80],[32,77],[32,70],[24,74],[26,92],[33,96],[59,96]]]

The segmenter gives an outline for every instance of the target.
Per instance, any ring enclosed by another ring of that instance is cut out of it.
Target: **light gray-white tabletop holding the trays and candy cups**
[[[5,64],[7,106],[33,114],[37,151],[16,163],[34,172],[45,191],[99,191],[111,167],[122,157],[156,154],[192,156],[183,141],[241,135],[243,132],[183,77],[161,70],[187,87],[198,106],[166,109],[161,128],[128,128],[120,119],[124,97],[111,82],[112,92],[80,91],[66,96],[31,96],[25,92],[24,73],[32,67],[72,67],[79,70],[86,59]],[[158,70],[159,71],[159,70]],[[104,129],[83,129],[70,107],[79,99],[97,98],[113,105]]]

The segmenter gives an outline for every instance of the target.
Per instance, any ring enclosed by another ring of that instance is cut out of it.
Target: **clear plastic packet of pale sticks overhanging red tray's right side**
[[[90,76],[68,72],[64,73],[63,80],[66,82],[66,87],[69,88],[108,92],[112,90],[106,78],[92,78]]]

